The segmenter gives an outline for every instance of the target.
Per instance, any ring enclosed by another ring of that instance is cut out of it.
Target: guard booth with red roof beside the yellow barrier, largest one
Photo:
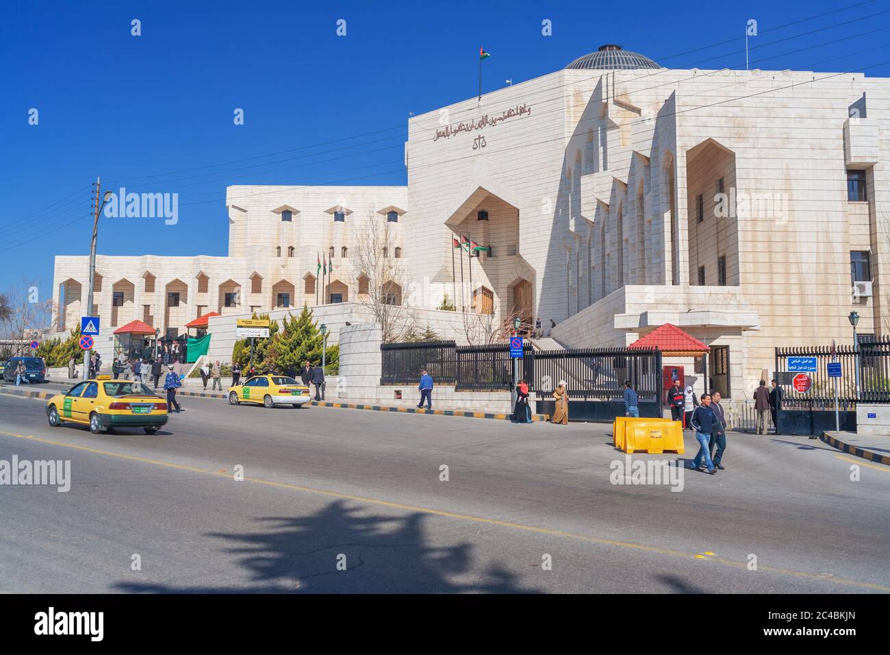
[[[670,416],[667,389],[678,379],[685,389],[692,387],[696,397],[708,392],[708,344],[687,334],[672,323],[664,323],[635,340],[628,349],[659,350],[661,353],[661,408]]]

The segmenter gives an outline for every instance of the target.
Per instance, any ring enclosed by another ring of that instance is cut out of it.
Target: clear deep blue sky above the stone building
[[[761,34],[749,42],[751,61],[772,59],[752,68],[890,77],[890,66],[873,67],[890,61],[887,0],[780,27],[854,4],[6,4],[0,291],[33,279],[48,297],[53,257],[88,254],[97,175],[114,190],[179,193],[177,225],[101,218],[99,252],[110,255],[224,255],[229,184],[405,184],[409,112],[473,97],[480,45],[492,53],[483,91],[559,70],[604,43],[671,68],[744,68],[753,18]],[[542,35],[542,20],[553,36]],[[769,45],[779,39],[788,40]],[[235,108],[243,126],[233,125]]]

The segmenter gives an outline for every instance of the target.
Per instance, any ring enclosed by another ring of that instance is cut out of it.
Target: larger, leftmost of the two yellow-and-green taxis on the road
[[[47,400],[46,417],[53,428],[71,422],[88,425],[93,434],[111,428],[154,434],[167,422],[167,404],[142,382],[99,375]]]

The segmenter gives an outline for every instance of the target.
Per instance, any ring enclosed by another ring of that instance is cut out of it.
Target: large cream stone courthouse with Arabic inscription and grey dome
[[[349,301],[353,233],[376,217],[398,230],[399,302],[448,292],[458,309],[553,319],[566,347],[673,323],[708,345],[731,397],[776,346],[848,343],[853,310],[863,338],[890,327],[886,78],[671,70],[604,45],[408,127],[407,187],[230,187],[227,257],[100,256],[93,312],[166,332],[210,310],[314,305],[319,252],[334,255],[320,302]],[[86,272],[56,258],[65,326]]]

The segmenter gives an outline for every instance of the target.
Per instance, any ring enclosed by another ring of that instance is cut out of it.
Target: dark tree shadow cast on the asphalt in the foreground
[[[473,544],[433,545],[425,534],[430,517],[412,512],[384,516],[367,507],[335,501],[300,517],[257,518],[255,532],[209,533],[231,546],[247,584],[230,586],[165,585],[118,582],[125,593],[148,594],[457,594],[536,593],[499,563],[484,570],[473,565]],[[442,533],[440,533],[442,534]],[[446,533],[447,534],[447,533]],[[442,539],[442,537],[439,537]],[[340,564],[341,569],[338,569]],[[157,566],[157,565],[156,565]],[[220,571],[207,571],[217,578]],[[141,575],[140,572],[135,575]],[[459,578],[459,580],[457,579]]]

